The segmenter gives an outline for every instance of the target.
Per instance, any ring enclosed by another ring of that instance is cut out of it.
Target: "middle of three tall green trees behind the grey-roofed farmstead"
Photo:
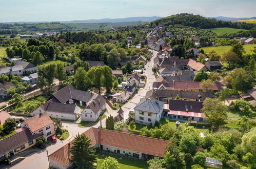
[[[103,67],[97,66],[89,70],[88,77],[91,80],[91,83],[99,90],[101,94],[101,87],[103,85]]]

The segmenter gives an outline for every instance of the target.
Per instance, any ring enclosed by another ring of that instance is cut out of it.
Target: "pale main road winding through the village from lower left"
[[[124,110],[124,118],[127,119],[128,118],[128,114],[129,114],[129,110],[133,109],[134,106],[140,102],[141,97],[145,97],[146,93],[148,90],[152,89],[152,83],[155,81],[155,77],[153,75],[152,72],[152,67],[153,67],[153,59],[154,57],[156,57],[157,52],[156,51],[152,51],[154,53],[153,57],[151,58],[150,61],[147,62],[146,64],[146,76],[147,76],[147,83],[146,86],[144,88],[141,88],[134,96],[131,100],[129,100],[129,102],[127,102],[126,104],[123,105],[122,109]],[[107,117],[108,116],[115,116],[117,115],[117,110],[112,110],[109,105],[107,105],[107,110],[108,113],[106,114]],[[104,118],[102,120],[102,126],[105,127],[105,122],[106,122],[106,118]],[[33,168],[33,169],[46,169],[49,167],[49,162],[48,162],[48,158],[47,158],[47,151],[48,154],[52,154],[53,152],[55,152],[56,150],[60,149],[63,145],[69,143],[76,134],[78,133],[84,133],[85,131],[87,131],[89,128],[80,128],[77,126],[77,122],[66,122],[63,121],[62,122],[63,126],[65,129],[67,129],[69,131],[69,138],[61,141],[61,140],[57,140],[56,143],[49,145],[46,147],[45,150],[42,151],[38,151],[36,153],[30,154],[28,155],[23,161],[14,164],[12,166],[6,166],[4,168],[12,168],[12,169],[27,169],[27,168]],[[97,122],[96,124],[93,125],[93,127],[97,128],[98,126],[101,125],[101,122]]]

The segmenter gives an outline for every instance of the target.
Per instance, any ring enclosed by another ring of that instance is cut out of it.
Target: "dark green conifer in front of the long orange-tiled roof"
[[[91,140],[85,134],[75,136],[72,142],[73,146],[70,148],[72,154],[69,159],[75,163],[75,168],[86,169],[94,168],[93,163],[96,162],[95,150],[91,146]]]

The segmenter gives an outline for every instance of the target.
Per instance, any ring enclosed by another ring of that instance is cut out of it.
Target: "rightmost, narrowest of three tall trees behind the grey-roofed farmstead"
[[[103,86],[106,87],[107,93],[110,93],[113,88],[113,77],[112,77],[112,69],[108,66],[104,66],[102,69],[103,73]]]

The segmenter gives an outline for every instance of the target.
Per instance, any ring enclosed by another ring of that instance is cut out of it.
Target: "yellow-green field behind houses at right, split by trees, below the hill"
[[[252,53],[251,50],[253,50],[254,47],[256,47],[256,44],[244,45],[243,47],[246,51],[246,54],[251,54]],[[205,51],[205,53],[209,53],[210,51],[214,50],[218,54],[222,55],[224,52],[228,52],[231,49],[231,46],[205,47],[205,48],[201,48],[201,49],[203,49]]]

